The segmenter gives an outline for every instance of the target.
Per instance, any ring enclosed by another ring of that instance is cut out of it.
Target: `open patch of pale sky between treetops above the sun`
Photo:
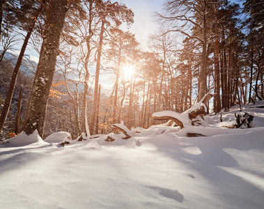
[[[141,47],[147,47],[148,35],[157,30],[154,12],[160,11],[165,0],[120,0],[134,12],[134,24],[130,31],[134,33]]]

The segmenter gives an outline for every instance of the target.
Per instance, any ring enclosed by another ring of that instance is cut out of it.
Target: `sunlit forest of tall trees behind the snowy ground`
[[[164,1],[147,49],[122,1],[1,0],[0,21],[0,140],[148,128],[206,93],[214,114],[264,98],[263,0]]]

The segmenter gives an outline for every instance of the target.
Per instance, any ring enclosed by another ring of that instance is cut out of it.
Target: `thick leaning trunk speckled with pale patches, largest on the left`
[[[59,40],[66,11],[67,0],[52,1],[49,19],[46,24],[47,31],[40,50],[36,80],[31,93],[29,116],[24,127],[24,132],[27,135],[33,134],[35,130],[38,130],[40,137],[43,137],[44,134],[47,101],[54,77],[56,56],[59,54]]]

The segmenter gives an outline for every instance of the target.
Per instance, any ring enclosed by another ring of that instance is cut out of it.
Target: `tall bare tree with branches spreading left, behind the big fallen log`
[[[202,1],[167,1],[164,3],[166,15],[157,13],[161,22],[169,22],[168,32],[179,32],[184,36],[196,40],[201,47],[201,69],[199,72],[199,100],[207,90],[208,40],[210,28],[208,26],[210,7],[208,0]],[[192,33],[189,29],[192,29]]]

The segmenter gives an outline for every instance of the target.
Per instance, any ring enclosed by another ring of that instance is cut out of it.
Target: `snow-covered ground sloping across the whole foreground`
[[[252,128],[221,127],[235,111],[113,142],[19,135],[0,146],[0,208],[264,208],[264,109],[244,109]]]

